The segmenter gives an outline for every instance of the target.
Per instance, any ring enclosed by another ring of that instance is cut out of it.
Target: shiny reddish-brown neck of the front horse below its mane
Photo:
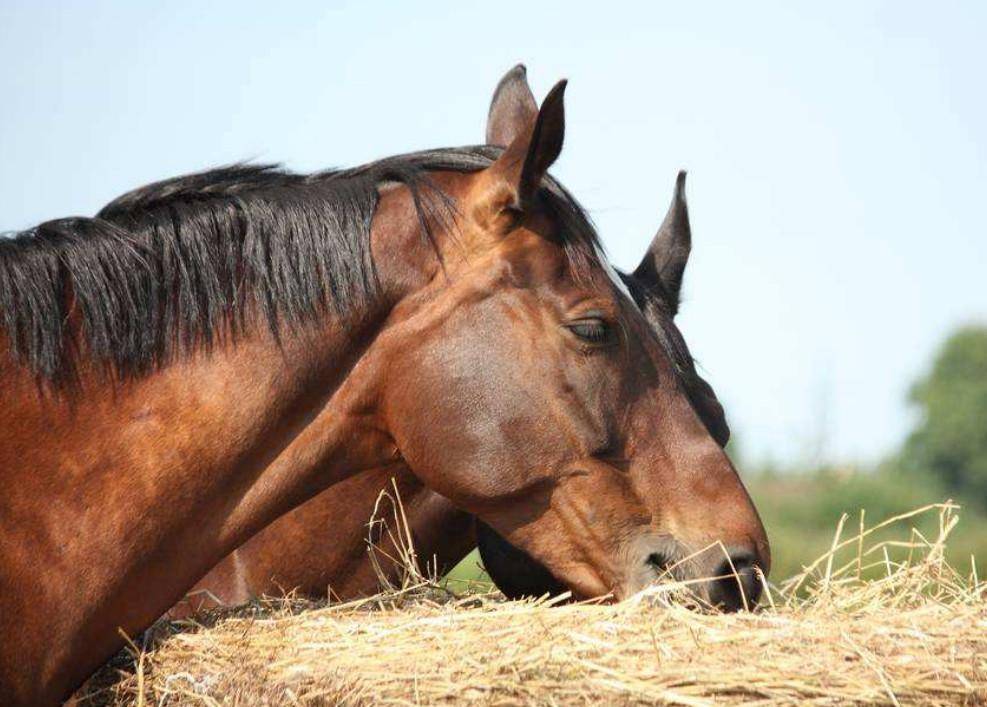
[[[397,197],[381,206],[393,218],[372,244],[398,257],[377,259],[384,296],[346,321],[280,341],[254,327],[137,380],[83,372],[78,395],[42,395],[0,358],[0,693],[28,675],[42,692],[25,701],[61,697],[120,646],[118,627],[142,630],[278,515],[393,457],[362,412],[363,359],[430,275],[417,222]]]

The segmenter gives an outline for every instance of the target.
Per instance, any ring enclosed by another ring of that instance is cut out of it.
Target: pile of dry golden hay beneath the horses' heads
[[[944,504],[842,539],[767,606],[696,612],[663,585],[617,605],[455,597],[416,582],[161,626],[111,704],[987,704],[987,583],[949,567]],[[938,537],[887,526],[938,513]],[[880,531],[880,532],[877,532]],[[876,534],[875,534],[876,533]]]

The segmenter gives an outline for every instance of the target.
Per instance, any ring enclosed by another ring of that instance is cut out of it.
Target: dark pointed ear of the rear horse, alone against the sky
[[[692,250],[689,207],[685,201],[685,170],[675,180],[675,195],[665,220],[648,246],[634,277],[646,287],[660,290],[670,298],[672,312],[678,311],[682,276]]]

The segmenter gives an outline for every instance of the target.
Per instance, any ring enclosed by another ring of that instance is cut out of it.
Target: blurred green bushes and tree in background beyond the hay
[[[949,560],[987,568],[987,327],[949,336],[909,402],[920,413],[902,448],[876,469],[763,468],[746,480],[771,539],[774,578],[799,571],[832,542],[843,513],[868,525],[928,503],[962,506]],[[749,468],[749,467],[748,467]],[[920,527],[927,536],[934,528]]]

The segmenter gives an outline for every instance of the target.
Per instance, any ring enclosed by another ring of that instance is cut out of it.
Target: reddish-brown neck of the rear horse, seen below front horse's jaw
[[[368,543],[378,550],[368,552]],[[400,582],[412,556],[421,571],[444,574],[475,545],[468,514],[391,464],[278,518],[214,567],[171,615],[187,616],[213,598],[237,603],[289,590],[318,598],[328,587],[343,601],[369,596],[381,574]]]

